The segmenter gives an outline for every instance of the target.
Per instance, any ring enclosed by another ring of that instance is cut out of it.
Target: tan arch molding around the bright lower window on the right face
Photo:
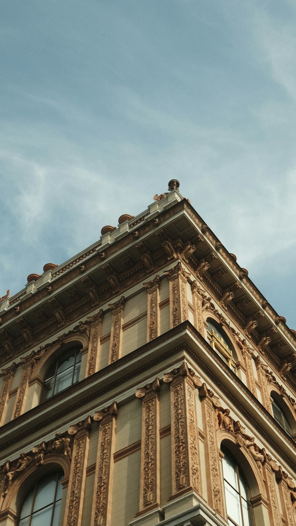
[[[235,444],[235,447],[234,447]],[[241,468],[248,489],[250,491],[250,503],[253,511],[253,524],[252,526],[261,526],[262,524],[269,524],[269,513],[268,513],[268,497],[267,491],[263,480],[260,477],[260,473],[255,466],[255,461],[250,457],[248,452],[244,448],[239,448],[235,442],[234,437],[229,436],[227,431],[222,431],[218,437],[218,445],[229,450],[230,454],[238,466]],[[220,449],[221,451],[221,449]],[[221,457],[223,453],[221,451]],[[221,479],[223,481],[223,468],[222,468],[222,458],[221,458]],[[225,499],[225,493],[224,493]],[[225,501],[224,501],[225,502]],[[226,502],[225,502],[226,508]]]

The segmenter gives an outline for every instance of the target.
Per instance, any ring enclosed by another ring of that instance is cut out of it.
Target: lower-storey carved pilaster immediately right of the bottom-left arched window
[[[91,427],[91,417],[87,417],[68,430],[75,438],[63,526],[81,526]]]

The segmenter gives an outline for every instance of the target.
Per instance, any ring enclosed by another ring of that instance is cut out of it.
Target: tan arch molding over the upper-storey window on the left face
[[[57,342],[51,349],[49,349],[41,360],[37,363],[34,368],[33,375],[31,377],[30,383],[33,383],[36,380],[42,381],[45,379],[48,368],[52,365],[55,358],[58,356],[59,352],[63,352],[63,349],[70,348],[71,343],[73,347],[75,345],[82,345],[81,352],[88,349],[88,338],[86,335],[77,335],[70,334],[66,335],[63,345],[60,342]]]

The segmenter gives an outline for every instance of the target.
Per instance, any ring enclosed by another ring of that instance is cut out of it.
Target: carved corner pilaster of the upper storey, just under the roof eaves
[[[184,270],[179,261],[175,267],[165,270],[164,275],[170,281],[170,327],[172,329],[188,319],[186,282],[190,274]]]

